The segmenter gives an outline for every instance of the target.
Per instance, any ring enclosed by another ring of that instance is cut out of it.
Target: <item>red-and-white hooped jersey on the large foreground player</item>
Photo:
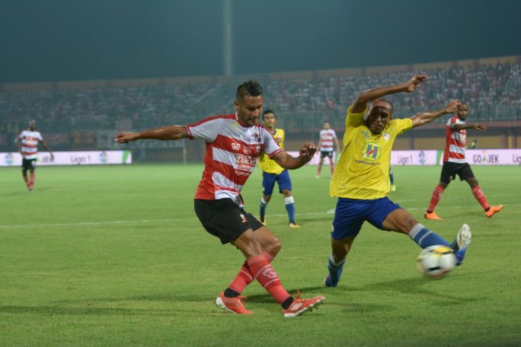
[[[240,191],[254,171],[257,158],[273,158],[283,151],[272,134],[261,126],[242,126],[237,115],[213,116],[185,126],[190,139],[206,141],[203,178],[195,198],[231,198],[242,207]]]

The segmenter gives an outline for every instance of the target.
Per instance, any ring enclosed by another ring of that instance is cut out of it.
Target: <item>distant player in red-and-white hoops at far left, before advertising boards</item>
[[[54,160],[54,155],[45,144],[40,131],[36,131],[36,121],[33,119],[29,121],[29,128],[20,133],[16,139],[18,151],[22,155],[22,176],[29,192],[33,192],[35,181],[35,162],[38,159],[38,144],[41,144],[44,149],[47,149],[51,154],[51,160]],[[27,171],[31,172],[31,176],[27,177]]]

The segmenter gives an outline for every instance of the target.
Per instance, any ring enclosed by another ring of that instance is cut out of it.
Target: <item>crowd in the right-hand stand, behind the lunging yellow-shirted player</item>
[[[490,109],[490,105],[515,105],[521,115],[521,64],[481,66],[477,69],[451,67],[421,71],[429,76],[428,88],[414,94],[395,94],[389,99],[399,110],[413,115],[420,110],[440,107],[448,99],[461,99],[470,110]],[[367,76],[328,76],[294,80],[275,80],[267,83],[267,100],[273,100],[280,111],[345,112],[361,90],[374,85],[392,85],[411,76],[411,72]],[[514,117],[515,115],[510,115]],[[490,115],[482,115],[486,119]],[[508,115],[505,115],[508,117]]]

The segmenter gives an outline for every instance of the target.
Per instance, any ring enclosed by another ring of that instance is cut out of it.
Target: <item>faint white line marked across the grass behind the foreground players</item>
[[[505,205],[508,207],[519,207],[521,203],[509,203]],[[438,210],[452,210],[452,209],[462,209],[462,208],[479,208],[477,203],[473,203],[471,205],[460,205],[460,206],[450,206],[447,208],[438,208]],[[417,210],[425,210],[424,207],[421,208],[406,208],[407,211],[417,211]],[[308,212],[308,213],[298,213],[297,216],[318,216],[324,214],[334,214],[335,209],[328,210],[326,212]],[[270,217],[287,217],[288,214],[268,214]],[[13,225],[0,225],[1,229],[8,228],[48,228],[48,227],[67,227],[67,226],[107,226],[111,224],[132,224],[132,223],[158,223],[158,222],[173,222],[173,221],[181,221],[181,220],[191,220],[197,218],[194,217],[184,217],[184,218],[176,218],[176,219],[137,219],[137,220],[124,220],[124,221],[87,221],[87,222],[76,222],[76,223],[42,223],[42,224],[13,224]]]

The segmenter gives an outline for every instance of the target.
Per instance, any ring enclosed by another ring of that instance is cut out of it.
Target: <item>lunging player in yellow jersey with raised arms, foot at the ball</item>
[[[326,287],[336,287],[347,253],[364,221],[381,230],[409,235],[420,247],[451,246],[461,264],[471,233],[467,224],[449,245],[445,239],[422,226],[416,219],[388,198],[390,152],[398,135],[416,126],[456,112],[460,101],[451,101],[445,108],[420,112],[412,118],[392,119],[392,104],[381,99],[388,94],[413,92],[427,76],[417,75],[406,83],[367,90],[347,109],[344,148],[329,187],[329,194],[338,197],[331,231],[331,255]],[[368,107],[369,106],[369,107]]]

